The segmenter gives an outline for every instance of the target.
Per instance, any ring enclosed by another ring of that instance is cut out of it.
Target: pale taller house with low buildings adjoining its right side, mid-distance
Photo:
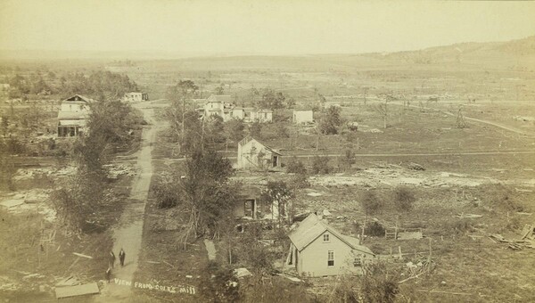
[[[244,122],[271,122],[273,120],[272,111],[235,107],[231,102],[230,95],[210,95],[203,106],[204,117],[218,115],[224,121],[243,119]]]

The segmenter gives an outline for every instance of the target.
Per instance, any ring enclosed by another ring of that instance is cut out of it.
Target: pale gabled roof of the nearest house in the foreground
[[[343,235],[332,226],[320,220],[315,214],[310,214],[309,217],[305,218],[288,236],[297,250],[301,251],[327,231],[346,243],[351,249],[374,255],[372,250],[360,245],[358,239]]]

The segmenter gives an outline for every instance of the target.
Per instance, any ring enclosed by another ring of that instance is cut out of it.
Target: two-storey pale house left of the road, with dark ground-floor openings
[[[89,103],[95,100],[80,94],[62,101],[58,112],[58,136],[77,136],[86,127],[86,120],[91,110]]]

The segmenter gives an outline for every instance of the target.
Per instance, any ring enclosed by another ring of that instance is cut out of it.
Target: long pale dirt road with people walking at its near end
[[[144,127],[141,150],[136,153],[137,175],[132,183],[129,204],[119,219],[119,225],[113,229],[113,252],[117,261],[111,272],[111,283],[104,287],[100,297],[95,298],[96,302],[128,302],[132,296],[132,286],[128,283],[133,283],[141,250],[144,208],[152,178],[152,146],[158,130],[165,127],[154,123],[151,106],[151,103],[135,104],[143,111],[148,127]],[[125,266],[119,265],[121,248],[126,252]]]

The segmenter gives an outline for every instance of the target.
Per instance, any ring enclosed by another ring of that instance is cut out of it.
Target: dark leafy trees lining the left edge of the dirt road
[[[53,192],[53,208],[63,225],[74,233],[89,232],[109,225],[105,209],[113,197],[108,194],[108,172],[104,164],[118,146],[131,146],[136,136],[129,130],[141,127],[143,119],[128,104],[91,104],[87,126],[74,146],[76,173]]]

